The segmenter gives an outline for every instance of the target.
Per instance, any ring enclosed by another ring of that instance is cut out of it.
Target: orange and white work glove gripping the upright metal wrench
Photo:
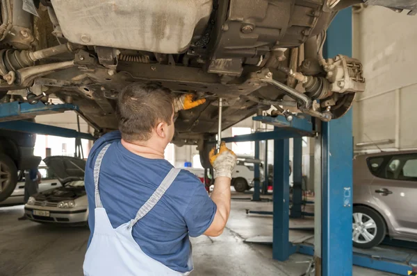
[[[224,142],[220,145],[218,154],[215,155],[214,151],[215,148],[208,153],[211,166],[213,166],[214,169],[214,178],[225,176],[231,179],[231,172],[236,165],[236,155],[226,147]]]

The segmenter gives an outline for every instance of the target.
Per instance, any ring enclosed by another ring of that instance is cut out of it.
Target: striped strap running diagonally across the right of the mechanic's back
[[[181,169],[175,169],[172,168],[171,171],[165,176],[165,178],[162,180],[161,184],[159,184],[159,187],[156,188],[154,193],[152,193],[152,196],[145,202],[142,207],[140,207],[138,213],[136,213],[136,217],[133,218],[129,223],[129,228],[133,227],[135,223],[137,223],[140,218],[143,218],[149,211],[151,211],[152,208],[158,203],[158,201],[162,198],[165,191],[171,186],[172,182],[174,182],[175,178],[177,178],[178,173],[181,171]]]

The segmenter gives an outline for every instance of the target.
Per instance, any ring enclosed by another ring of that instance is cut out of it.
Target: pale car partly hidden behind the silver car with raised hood
[[[60,185],[60,182],[58,179],[56,179],[54,173],[52,173],[51,170],[48,169],[47,166],[41,166],[39,167],[39,172],[42,175],[42,182],[39,184],[38,192],[47,191],[52,188],[58,187]],[[0,202],[0,206],[12,206],[12,205],[22,205],[24,204],[24,173],[19,172],[20,178],[17,182],[17,185],[15,187],[15,190],[13,193],[6,198],[6,200],[3,200]]]

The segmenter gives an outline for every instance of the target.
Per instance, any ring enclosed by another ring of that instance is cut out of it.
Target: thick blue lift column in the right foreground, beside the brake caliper
[[[330,24],[324,51],[325,57],[352,55],[352,8],[338,12]],[[322,123],[323,276],[352,275],[352,159],[350,110]]]

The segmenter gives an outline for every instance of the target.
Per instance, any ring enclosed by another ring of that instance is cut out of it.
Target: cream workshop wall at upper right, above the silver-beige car
[[[378,6],[354,16],[354,56],[362,61],[366,78],[366,92],[354,103],[355,144],[394,139],[379,147],[417,148],[416,26],[417,17]]]

